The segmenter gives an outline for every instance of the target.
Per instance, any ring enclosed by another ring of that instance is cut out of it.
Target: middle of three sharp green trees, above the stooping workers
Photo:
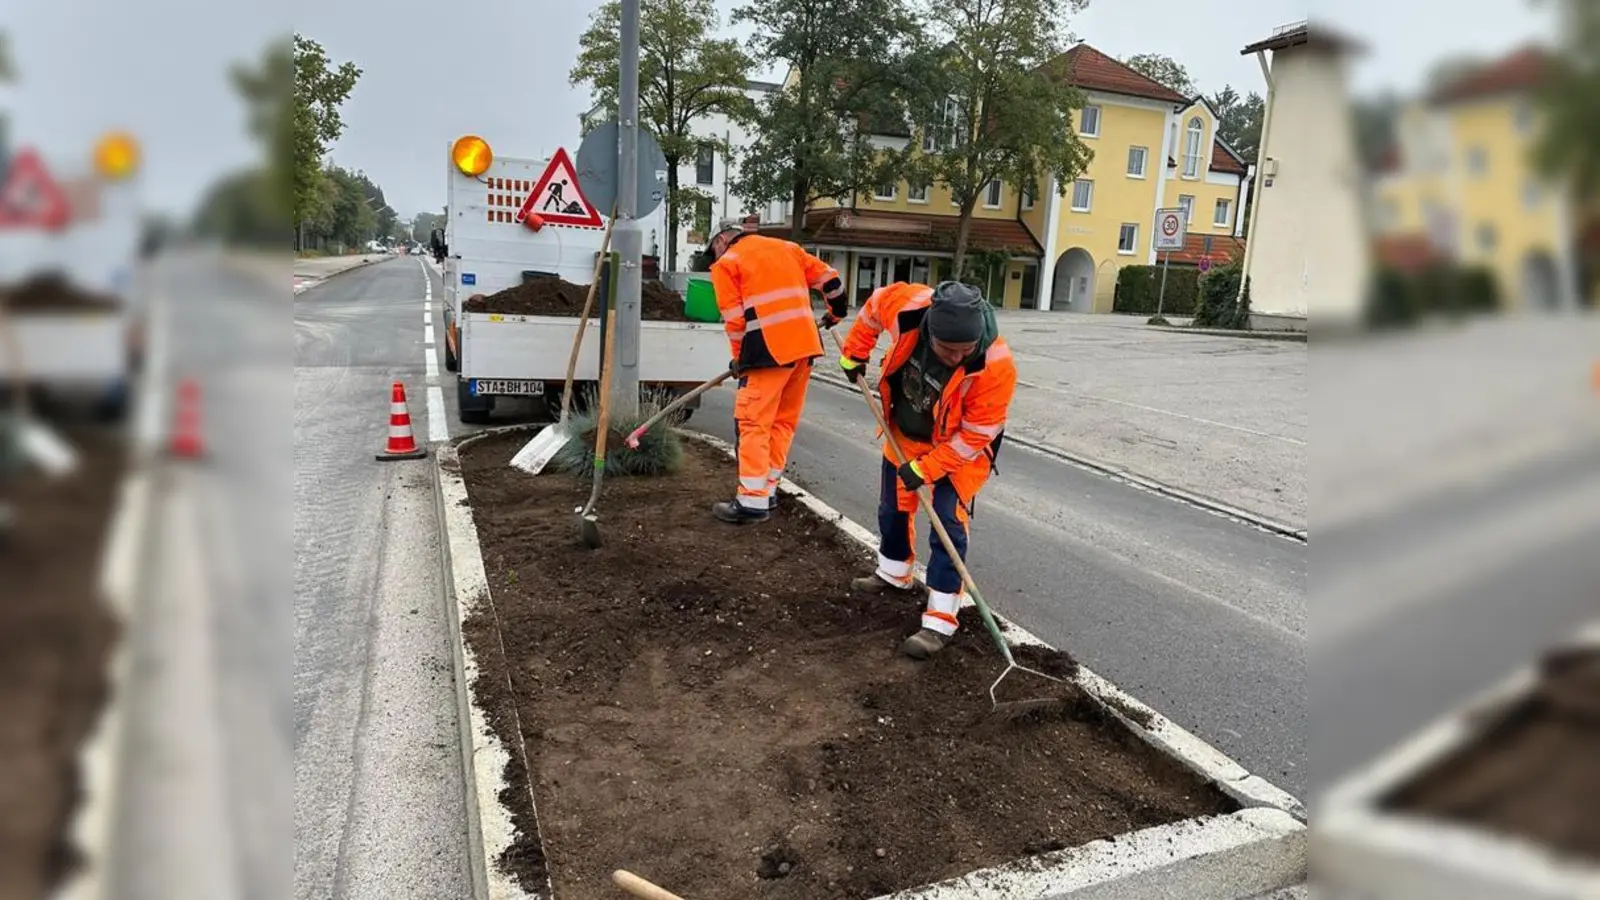
[[[894,151],[870,139],[912,135],[912,112],[931,104],[933,56],[906,0],[760,0],[734,22],[755,29],[749,46],[760,62],[792,75],[755,117],[734,181],[741,197],[757,208],[787,200],[798,237],[818,200],[907,175],[909,141]]]

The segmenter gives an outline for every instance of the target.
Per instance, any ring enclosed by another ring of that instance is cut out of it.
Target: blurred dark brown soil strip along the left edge
[[[77,753],[117,636],[98,580],[123,453],[110,437],[64,437],[77,474],[0,479],[16,516],[0,538],[0,897],[45,897],[74,865]]]

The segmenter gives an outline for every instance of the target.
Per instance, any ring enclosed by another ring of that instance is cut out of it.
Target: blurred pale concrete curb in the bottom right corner
[[[1566,645],[1600,647],[1600,621]],[[1512,673],[1334,785],[1317,810],[1310,847],[1320,882],[1382,898],[1600,898],[1600,865],[1558,858],[1530,841],[1381,807],[1389,793],[1515,711],[1538,682],[1536,671],[1530,665]]]

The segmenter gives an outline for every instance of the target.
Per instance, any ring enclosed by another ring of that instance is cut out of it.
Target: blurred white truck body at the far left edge
[[[85,167],[86,171],[88,167]],[[72,221],[59,232],[0,231],[0,285],[59,272],[72,285],[122,301],[115,312],[26,311],[11,317],[22,372],[45,388],[93,388],[128,376],[128,338],[139,315],[134,283],[139,251],[139,205],[133,179],[104,183],[93,175],[58,179],[72,205]],[[0,341],[0,380],[13,360]]]

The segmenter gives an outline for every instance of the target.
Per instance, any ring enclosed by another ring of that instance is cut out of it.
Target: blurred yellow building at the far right
[[[1573,203],[1528,162],[1547,59],[1520,50],[1402,110],[1371,183],[1379,259],[1486,266],[1510,309],[1578,304]]]

